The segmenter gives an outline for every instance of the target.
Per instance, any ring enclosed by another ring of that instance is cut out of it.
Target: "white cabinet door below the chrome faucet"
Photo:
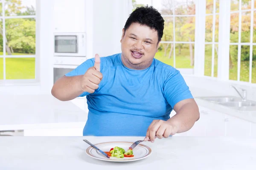
[[[226,136],[250,136],[250,122],[227,115]]]

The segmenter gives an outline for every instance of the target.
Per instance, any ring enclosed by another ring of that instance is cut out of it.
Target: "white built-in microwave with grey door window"
[[[54,56],[86,57],[86,34],[54,33]]]

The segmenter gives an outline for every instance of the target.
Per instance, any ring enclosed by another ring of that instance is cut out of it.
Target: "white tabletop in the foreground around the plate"
[[[143,142],[146,159],[107,162],[90,158],[82,141],[134,142],[143,137],[0,137],[0,170],[256,170],[256,139],[173,136]]]

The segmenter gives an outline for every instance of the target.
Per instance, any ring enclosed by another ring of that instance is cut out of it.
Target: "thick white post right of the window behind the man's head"
[[[206,0],[195,0],[195,65],[194,74],[204,76]]]

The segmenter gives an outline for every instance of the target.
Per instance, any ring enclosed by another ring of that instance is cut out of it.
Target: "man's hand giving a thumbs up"
[[[88,68],[81,78],[81,89],[91,94],[94,93],[99,88],[102,77],[102,73],[100,72],[100,57],[99,54],[95,54],[94,66]]]

